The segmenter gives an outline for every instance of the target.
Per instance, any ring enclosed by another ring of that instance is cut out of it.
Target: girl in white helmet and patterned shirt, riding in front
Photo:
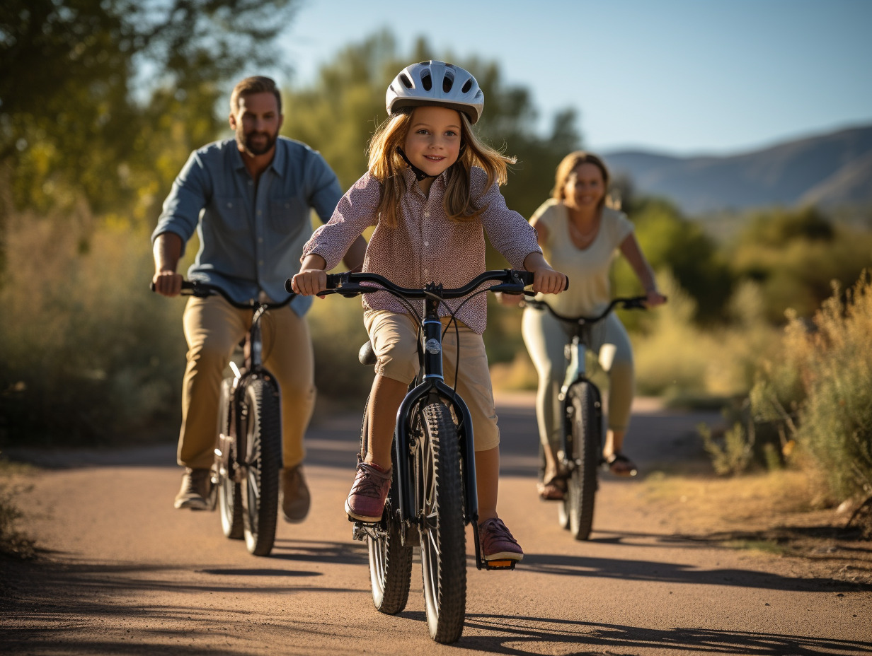
[[[436,282],[461,287],[485,270],[485,238],[514,268],[535,274],[533,289],[557,294],[566,276],[548,266],[535,230],[506,206],[499,186],[510,159],[475,135],[484,94],[475,78],[458,66],[426,61],[405,67],[387,89],[388,118],[369,145],[369,171],[345,193],[330,221],[303,248],[293,278],[298,294],[326,287],[325,270],[367,227],[375,226],[364,272],[384,275],[402,287]],[[454,385],[457,352],[463,354],[456,386],[473,417],[479,531],[486,560],[521,560],[523,551],[497,516],[500,471],[497,417],[487,355],[481,338],[487,323],[484,296],[440,309],[454,329],[443,342],[446,384]],[[364,324],[377,356],[371,390],[366,456],[358,463],[345,502],[349,517],[378,522],[391,486],[391,443],[399,404],[418,371],[418,327],[386,293],[363,297]]]

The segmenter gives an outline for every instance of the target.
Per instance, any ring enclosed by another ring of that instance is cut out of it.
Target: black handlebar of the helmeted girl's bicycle
[[[453,289],[441,288],[435,294],[444,300],[456,299],[472,294],[482,283],[487,281],[500,281],[499,284],[488,287],[488,291],[503,292],[505,294],[526,294],[527,292],[524,290],[524,287],[533,284],[533,274],[529,271],[518,269],[485,271],[475,276],[472,281],[467,282],[463,287],[455,287]],[[378,287],[360,284],[363,282],[371,282],[378,285]],[[567,286],[569,286],[569,281]],[[290,278],[285,281],[284,288],[288,291],[292,289]],[[327,274],[327,288],[324,290],[324,294],[357,296],[358,294],[371,294],[378,291],[388,291],[408,299],[424,299],[434,294],[433,291],[423,288],[399,287],[399,285],[393,284],[383,275],[351,272]]]

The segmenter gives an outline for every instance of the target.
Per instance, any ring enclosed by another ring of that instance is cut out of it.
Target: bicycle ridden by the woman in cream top
[[[564,348],[566,374],[560,390],[563,430],[557,462],[567,480],[567,492],[558,505],[557,520],[576,540],[586,540],[594,519],[594,501],[599,486],[597,470],[603,464],[603,400],[599,388],[587,376],[586,354],[591,330],[615,308],[645,309],[645,296],[613,299],[597,316],[568,317],[557,314],[548,303],[527,299],[527,305],[547,310],[572,328]]]

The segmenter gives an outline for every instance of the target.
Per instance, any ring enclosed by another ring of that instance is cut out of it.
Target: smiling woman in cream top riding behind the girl
[[[608,307],[610,266],[618,250],[642,283],[648,307],[666,301],[657,291],[657,281],[638,245],[633,224],[624,213],[606,205],[608,188],[609,172],[601,159],[589,152],[571,152],[557,166],[552,198],[542,203],[530,219],[545,257],[572,279],[566,293],[548,301],[562,316],[599,314]],[[536,419],[545,454],[545,472],[539,484],[543,499],[562,499],[566,492],[556,454],[563,425],[558,395],[569,329],[541,308],[528,306],[524,310],[521,331],[539,375]],[[591,352],[600,357],[610,378],[603,459],[612,473],[633,476],[636,464],[622,450],[635,389],[630,339],[617,315],[610,314],[596,325],[592,341]],[[603,348],[606,344],[611,348]]]

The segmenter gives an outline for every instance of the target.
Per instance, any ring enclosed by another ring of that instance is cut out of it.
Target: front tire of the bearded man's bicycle
[[[263,378],[252,378],[242,402],[245,476],[242,477],[242,525],[245,546],[269,556],[276,541],[278,477],[282,459],[282,417],[278,391]]]

